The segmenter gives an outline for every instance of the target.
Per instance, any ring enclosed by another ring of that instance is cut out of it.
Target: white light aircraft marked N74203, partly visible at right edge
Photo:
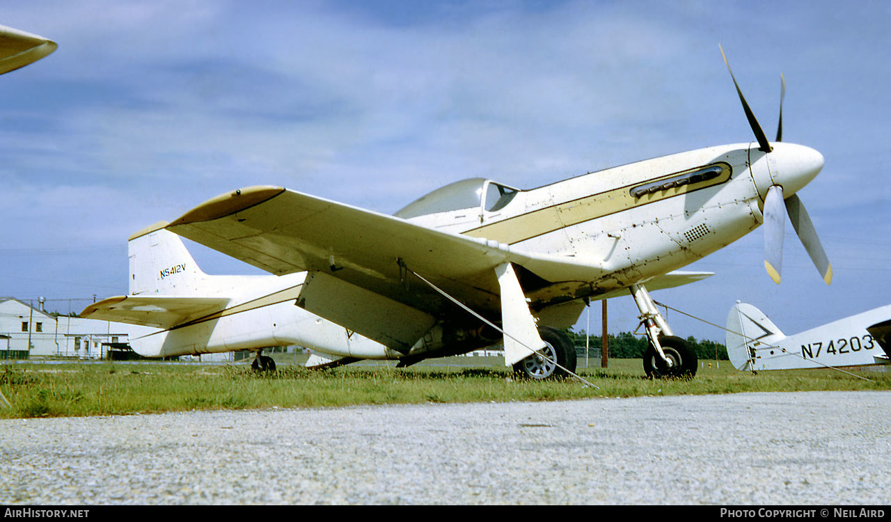
[[[786,337],[761,310],[727,315],[727,354],[737,370],[799,370],[891,362],[891,305]]]

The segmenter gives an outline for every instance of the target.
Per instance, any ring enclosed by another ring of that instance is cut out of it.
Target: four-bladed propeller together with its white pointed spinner
[[[727,56],[721,49],[724,64],[730,71],[733,85],[740,95],[742,109],[746,112],[748,125],[752,127],[758,142],[758,150],[772,156],[769,164],[772,164],[772,185],[764,196],[764,268],[771,279],[780,284],[782,273],[782,245],[786,226],[786,216],[792,222],[792,227],[798,235],[798,239],[805,246],[807,254],[811,257],[813,265],[826,284],[832,281],[832,264],[826,256],[816,229],[813,228],[810,216],[807,215],[805,204],[797,196],[796,192],[810,182],[823,167],[823,157],[818,151],[802,145],[794,145],[782,142],[782,103],[786,97],[786,78],[780,75],[780,122],[777,126],[776,142],[771,144],[764,135],[764,129],[758,124],[755,113],[742,95],[740,84],[733,76],[733,70],[727,61]],[[777,167],[779,166],[779,167]]]

